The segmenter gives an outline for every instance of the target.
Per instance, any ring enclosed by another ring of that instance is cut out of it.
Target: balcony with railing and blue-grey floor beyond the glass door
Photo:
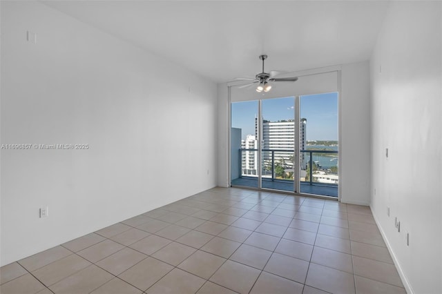
[[[231,184],[258,188],[257,170],[251,168],[258,149],[239,149],[238,155],[237,166],[231,170],[238,170],[239,175],[232,175]],[[294,191],[293,155],[293,150],[262,150],[262,188]],[[338,197],[337,155],[333,150],[301,150],[300,193]]]

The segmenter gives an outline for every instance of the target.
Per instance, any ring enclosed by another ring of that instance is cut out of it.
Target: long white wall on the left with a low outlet
[[[38,2],[1,1],[1,63],[1,144],[90,146],[1,150],[1,265],[215,186],[213,82]]]

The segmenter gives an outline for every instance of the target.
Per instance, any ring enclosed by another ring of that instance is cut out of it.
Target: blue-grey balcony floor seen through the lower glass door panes
[[[238,179],[233,179],[231,181],[233,186],[246,186],[258,188],[258,178],[256,177],[240,177]],[[271,179],[262,179],[262,188],[273,189],[273,190],[284,190],[293,192],[293,182],[290,181],[274,181]],[[313,194],[313,195],[323,195],[338,197],[338,186],[326,185],[326,184],[307,184],[302,183],[300,186],[300,193]]]

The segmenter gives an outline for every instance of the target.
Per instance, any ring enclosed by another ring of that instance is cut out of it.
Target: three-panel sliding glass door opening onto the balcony
[[[231,185],[338,196],[338,93],[231,104]]]

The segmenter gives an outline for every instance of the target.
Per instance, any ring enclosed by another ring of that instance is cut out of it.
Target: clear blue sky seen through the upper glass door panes
[[[262,115],[269,121],[294,119],[294,97],[262,101]],[[236,102],[231,107],[233,128],[242,137],[255,134],[258,101]],[[338,93],[300,97],[300,116],[307,119],[307,140],[338,140]]]

